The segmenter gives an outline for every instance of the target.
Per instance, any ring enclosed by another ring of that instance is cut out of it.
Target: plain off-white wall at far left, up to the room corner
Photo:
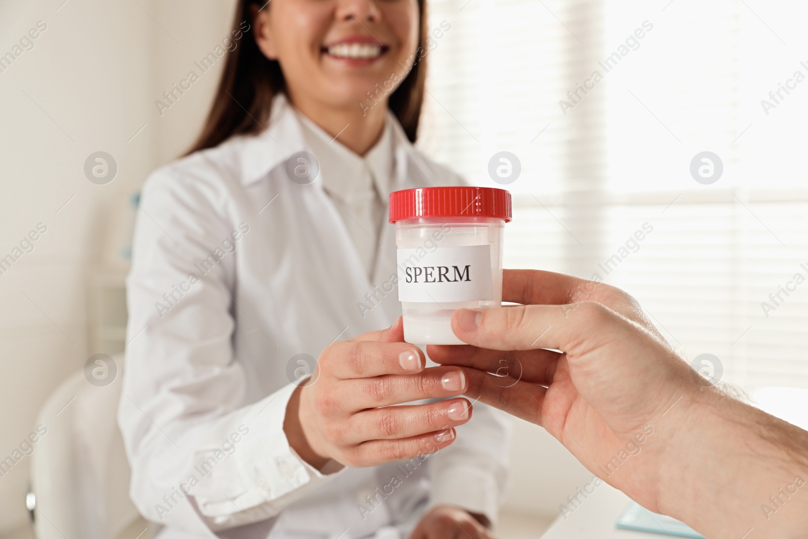
[[[109,210],[152,162],[149,133],[126,145],[142,124],[149,86],[149,26],[137,4],[71,0],[57,12],[60,4],[0,3],[2,54],[37,21],[48,25],[0,74],[0,256],[40,221],[48,227],[34,251],[0,275],[3,458],[32,431],[44,398],[86,360],[87,272],[99,260]],[[83,174],[86,157],[100,149],[120,166],[105,186]],[[29,461],[0,478],[0,530],[27,518]]]

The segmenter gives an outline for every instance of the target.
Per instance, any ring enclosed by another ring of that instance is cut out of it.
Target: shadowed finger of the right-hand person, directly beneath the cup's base
[[[553,382],[559,352],[545,350],[490,350],[475,346],[430,345],[429,358],[443,365],[476,368],[499,377],[511,377],[533,384],[549,385]],[[504,383],[504,382],[503,382]]]

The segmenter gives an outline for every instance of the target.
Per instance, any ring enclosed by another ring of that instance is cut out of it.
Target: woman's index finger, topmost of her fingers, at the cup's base
[[[326,348],[319,365],[342,380],[377,377],[382,374],[415,374],[426,364],[423,352],[410,343],[337,341]]]

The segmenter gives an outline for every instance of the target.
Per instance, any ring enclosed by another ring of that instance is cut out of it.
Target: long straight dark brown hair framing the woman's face
[[[259,122],[269,119],[272,98],[285,91],[286,81],[280,64],[263,55],[250,33],[253,20],[250,8],[267,3],[263,0],[238,1],[231,35],[241,36],[241,42],[228,53],[208,119],[188,154],[213,148],[233,135],[260,133],[266,126],[262,127]],[[427,2],[418,0],[418,5],[420,30],[415,65],[388,102],[410,142],[415,142],[418,136],[423,86],[427,77]],[[373,103],[370,98],[368,103]]]

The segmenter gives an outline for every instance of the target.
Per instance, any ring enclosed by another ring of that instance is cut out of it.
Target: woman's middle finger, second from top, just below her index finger
[[[455,367],[430,367],[423,373],[346,380],[340,384],[339,397],[347,411],[390,406],[423,398],[444,398],[463,394],[468,384],[465,374]]]

